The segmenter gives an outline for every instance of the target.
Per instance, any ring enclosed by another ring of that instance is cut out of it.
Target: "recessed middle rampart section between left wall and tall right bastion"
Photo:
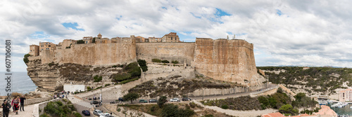
[[[177,60],[191,64],[194,60],[194,43],[137,43],[137,59],[151,62],[152,59]]]

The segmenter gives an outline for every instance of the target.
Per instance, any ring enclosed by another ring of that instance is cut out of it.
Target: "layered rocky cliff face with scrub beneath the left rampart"
[[[30,60],[27,63],[27,74],[33,83],[38,86],[37,90],[54,92],[63,90],[64,84],[84,84],[84,85],[103,85],[111,83],[111,76],[121,71],[120,67],[92,67],[91,65],[81,64],[58,64],[51,62],[42,63],[42,60]],[[103,80],[94,83],[94,76],[103,76]]]

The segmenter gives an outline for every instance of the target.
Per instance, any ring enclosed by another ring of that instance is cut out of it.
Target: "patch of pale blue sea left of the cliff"
[[[0,96],[7,94],[6,86],[7,81],[6,72],[0,72]],[[30,79],[30,76],[27,75],[27,72],[12,72],[11,78],[11,92],[20,92],[28,93],[34,91],[37,88],[37,85],[34,85],[33,81]]]

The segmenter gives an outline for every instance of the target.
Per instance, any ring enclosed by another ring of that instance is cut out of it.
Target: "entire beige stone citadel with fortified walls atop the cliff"
[[[195,42],[182,42],[175,32],[161,38],[132,35],[108,39],[98,34],[96,37],[84,36],[80,40],[65,39],[58,44],[40,42],[39,46],[30,46],[29,54],[31,62],[27,64],[27,71],[34,83],[49,76],[33,72],[39,68],[34,64],[35,60],[40,60],[41,64],[96,66],[128,64],[139,59],[146,62],[152,62],[152,59],[177,60],[184,67],[193,68],[197,74],[253,89],[263,88],[265,81],[257,73],[253,43],[242,39],[196,38]]]

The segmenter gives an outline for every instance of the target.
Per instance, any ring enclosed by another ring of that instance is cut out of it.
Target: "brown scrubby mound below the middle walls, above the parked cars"
[[[146,81],[136,85],[128,92],[136,92],[142,97],[156,97],[166,95],[168,97],[178,97],[187,95],[189,92],[201,88],[232,88],[238,85],[231,83],[216,83],[201,78],[182,78],[181,76],[172,76],[170,78],[158,78],[155,81]]]

